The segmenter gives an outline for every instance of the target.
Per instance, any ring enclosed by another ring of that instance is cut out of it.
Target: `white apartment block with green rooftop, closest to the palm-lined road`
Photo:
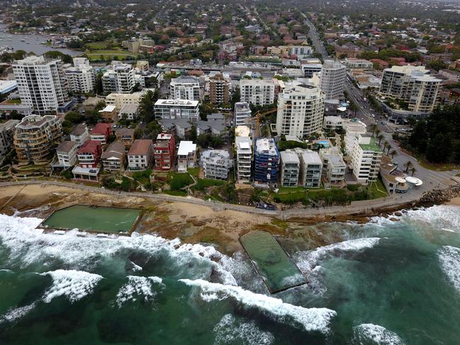
[[[354,178],[363,184],[376,181],[383,152],[374,137],[359,135],[345,138],[346,149],[351,158],[349,167]]]

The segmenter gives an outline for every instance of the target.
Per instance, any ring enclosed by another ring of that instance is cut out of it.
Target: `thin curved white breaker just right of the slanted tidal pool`
[[[299,251],[294,254],[293,260],[301,271],[309,273],[319,261],[333,256],[336,252],[362,251],[363,249],[374,247],[379,241],[379,237],[349,239],[348,241],[330,244],[325,247],[318,247],[312,251]]]

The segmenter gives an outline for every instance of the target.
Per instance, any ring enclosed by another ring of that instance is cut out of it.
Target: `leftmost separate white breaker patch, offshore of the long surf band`
[[[41,275],[45,276],[47,274],[52,277],[52,285],[43,295],[43,300],[47,303],[59,296],[67,297],[72,303],[81,300],[92,293],[96,284],[103,278],[99,274],[75,270],[65,271],[62,269],[42,273]]]

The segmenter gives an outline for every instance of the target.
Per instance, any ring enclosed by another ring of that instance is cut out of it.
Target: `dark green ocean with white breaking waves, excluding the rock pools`
[[[0,344],[460,341],[456,206],[298,227],[281,243],[309,283],[274,295],[242,252],[42,234],[26,215],[0,215]]]

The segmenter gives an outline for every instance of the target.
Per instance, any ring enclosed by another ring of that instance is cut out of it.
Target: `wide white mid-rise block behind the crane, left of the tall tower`
[[[264,106],[274,103],[275,84],[271,79],[241,79],[240,101]]]

